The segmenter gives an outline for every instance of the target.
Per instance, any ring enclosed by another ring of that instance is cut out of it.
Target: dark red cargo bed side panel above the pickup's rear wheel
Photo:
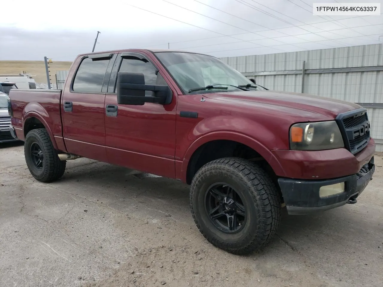
[[[23,132],[28,125],[44,124],[48,132],[62,139],[60,99],[62,90],[22,90],[13,89],[11,98],[13,117],[11,125],[15,127],[18,139],[25,140]],[[28,119],[28,121],[25,121]]]

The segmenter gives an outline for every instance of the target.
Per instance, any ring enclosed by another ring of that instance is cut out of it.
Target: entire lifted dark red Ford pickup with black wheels
[[[78,157],[190,184],[201,233],[236,254],[264,247],[286,206],[355,203],[375,171],[367,110],[269,91],[203,54],[79,55],[63,90],[11,90],[11,133],[38,181]]]

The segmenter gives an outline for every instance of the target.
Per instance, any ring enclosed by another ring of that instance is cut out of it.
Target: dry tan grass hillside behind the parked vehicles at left
[[[55,83],[56,71],[69,70],[72,62],[55,62],[49,64],[51,83]],[[0,61],[1,74],[18,74],[22,71],[34,76],[36,83],[47,83],[44,61]]]

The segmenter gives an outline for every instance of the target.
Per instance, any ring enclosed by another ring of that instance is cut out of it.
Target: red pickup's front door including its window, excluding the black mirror
[[[108,161],[174,178],[177,97],[173,96],[170,104],[118,104],[115,94],[118,71],[143,73],[146,85],[167,85],[161,75],[162,71],[155,68],[148,56],[139,53],[118,55],[105,98],[105,145]],[[146,91],[146,95],[151,93]]]

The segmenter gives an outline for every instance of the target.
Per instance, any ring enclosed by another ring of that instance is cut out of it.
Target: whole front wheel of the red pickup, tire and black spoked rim
[[[278,229],[281,197],[259,165],[241,158],[221,158],[195,174],[190,187],[193,219],[213,245],[249,254],[267,245]]]

